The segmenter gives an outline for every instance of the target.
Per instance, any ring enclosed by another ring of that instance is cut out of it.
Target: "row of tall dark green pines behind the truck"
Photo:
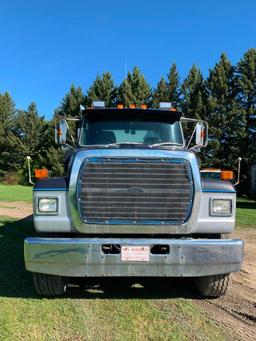
[[[207,77],[193,65],[181,81],[172,64],[154,89],[138,67],[119,86],[110,72],[103,73],[85,92],[72,85],[48,121],[35,103],[20,110],[9,93],[0,94],[0,178],[26,183],[27,155],[33,168],[46,167],[52,176],[63,174],[63,153],[54,144],[55,121],[59,114],[77,116],[80,104],[90,106],[94,100],[108,107],[123,103],[156,108],[167,101],[186,117],[206,120],[209,145],[200,155],[202,167],[236,170],[242,156],[241,190],[248,190],[250,167],[256,163],[256,49],[249,49],[236,65],[222,54]]]

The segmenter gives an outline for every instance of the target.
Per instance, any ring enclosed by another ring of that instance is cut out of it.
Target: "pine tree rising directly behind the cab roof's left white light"
[[[87,92],[89,105],[92,101],[105,101],[106,107],[111,107],[115,103],[115,97],[116,88],[109,72],[103,73],[102,77],[97,76]]]

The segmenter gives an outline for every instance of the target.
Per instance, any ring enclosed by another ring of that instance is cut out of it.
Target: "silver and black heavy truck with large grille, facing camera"
[[[203,179],[198,153],[207,122],[160,108],[105,108],[95,102],[56,129],[66,149],[63,177],[33,188],[36,235],[24,241],[25,267],[41,296],[63,295],[73,281],[189,277],[204,297],[225,294],[240,271],[231,182]],[[184,137],[186,122],[195,127]]]

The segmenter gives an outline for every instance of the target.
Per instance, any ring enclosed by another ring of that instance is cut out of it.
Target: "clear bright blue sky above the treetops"
[[[136,65],[152,87],[173,62],[207,76],[222,52],[235,64],[256,47],[255,13],[255,0],[0,0],[0,93],[49,119],[106,71],[119,84]]]

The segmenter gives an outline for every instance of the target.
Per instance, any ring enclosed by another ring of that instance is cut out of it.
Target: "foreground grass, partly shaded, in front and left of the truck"
[[[3,340],[226,340],[225,331],[192,303],[184,280],[71,287],[41,299],[23,263],[29,222],[0,218],[0,333]]]

